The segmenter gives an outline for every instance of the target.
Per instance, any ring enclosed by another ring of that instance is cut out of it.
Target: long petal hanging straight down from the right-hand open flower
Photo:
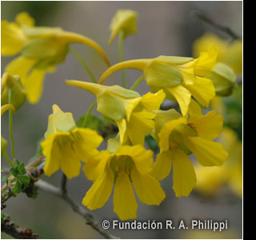
[[[178,198],[187,197],[197,182],[194,166],[182,150],[174,148],[171,150],[171,156],[173,159],[174,192]]]

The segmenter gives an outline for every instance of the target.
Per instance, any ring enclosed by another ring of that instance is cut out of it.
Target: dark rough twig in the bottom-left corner
[[[1,223],[1,231],[18,239],[41,239],[38,234],[33,233],[30,228],[22,228],[10,221],[10,217],[5,215]]]

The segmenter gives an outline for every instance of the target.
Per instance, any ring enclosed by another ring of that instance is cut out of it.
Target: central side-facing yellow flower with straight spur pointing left
[[[88,90],[97,97],[98,112],[117,124],[121,144],[127,141],[133,145],[144,144],[145,134],[150,134],[154,129],[155,114],[152,110],[158,110],[166,96],[162,90],[140,96],[134,90],[126,90],[121,86],[103,86],[75,80],[66,83]]]

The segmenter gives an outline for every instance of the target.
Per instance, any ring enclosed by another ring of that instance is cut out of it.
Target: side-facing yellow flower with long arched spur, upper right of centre
[[[159,56],[152,59],[136,59],[120,62],[102,74],[99,83],[116,70],[133,68],[142,70],[146,83],[153,92],[164,90],[166,98],[178,102],[182,114],[186,115],[191,95],[208,106],[215,96],[214,84],[207,78],[216,63],[218,52],[211,46],[199,58]]]

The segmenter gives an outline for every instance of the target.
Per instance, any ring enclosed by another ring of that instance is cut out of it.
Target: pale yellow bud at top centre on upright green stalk
[[[124,34],[123,38],[126,38],[128,35],[131,34],[136,34],[137,16],[138,14],[133,10],[118,10],[110,24],[111,35],[109,44],[112,44],[116,35],[121,31]]]

